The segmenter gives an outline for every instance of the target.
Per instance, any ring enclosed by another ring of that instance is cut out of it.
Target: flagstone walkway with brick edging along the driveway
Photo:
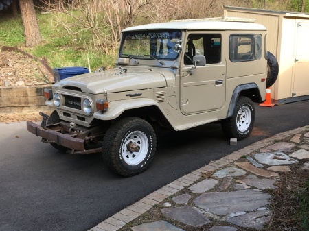
[[[188,227],[210,231],[262,230],[273,215],[268,207],[271,195],[264,190],[275,189],[280,174],[299,162],[301,169],[308,171],[309,126],[266,138],[211,162],[89,231],[180,231]],[[139,216],[155,205],[160,208],[159,219],[140,223]]]

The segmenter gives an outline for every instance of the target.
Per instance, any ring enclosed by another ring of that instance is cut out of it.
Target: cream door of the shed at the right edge
[[[309,95],[309,23],[297,22],[295,75],[292,96]]]

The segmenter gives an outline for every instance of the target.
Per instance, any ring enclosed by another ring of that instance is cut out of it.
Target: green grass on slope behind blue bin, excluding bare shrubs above
[[[36,47],[25,47],[27,53],[38,58],[46,57],[49,66],[52,68],[64,66],[88,66],[88,59],[91,71],[101,66],[110,69],[115,66],[117,57],[116,51],[106,55],[91,46],[93,35],[76,27],[70,27],[71,32],[65,28],[61,20],[73,23],[63,15],[37,14],[43,41]],[[23,36],[23,23],[21,16],[8,16],[0,19],[0,46],[22,46],[25,44]]]

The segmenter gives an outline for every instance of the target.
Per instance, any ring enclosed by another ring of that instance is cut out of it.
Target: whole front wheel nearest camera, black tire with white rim
[[[129,177],[149,167],[156,147],[157,138],[152,126],[144,119],[126,117],[106,132],[102,156],[109,169]]]

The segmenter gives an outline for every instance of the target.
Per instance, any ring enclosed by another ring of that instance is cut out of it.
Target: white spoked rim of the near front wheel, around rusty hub
[[[127,145],[131,142],[139,146],[139,151],[128,151]],[[138,165],[146,158],[148,147],[148,138],[144,132],[131,132],[122,143],[122,158],[128,165]]]

